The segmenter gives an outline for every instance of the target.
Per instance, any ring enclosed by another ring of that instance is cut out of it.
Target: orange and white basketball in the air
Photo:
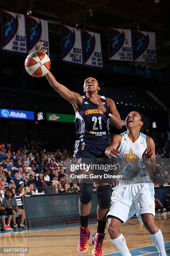
[[[50,58],[40,51],[33,51],[25,59],[25,69],[32,77],[45,76],[50,67]]]

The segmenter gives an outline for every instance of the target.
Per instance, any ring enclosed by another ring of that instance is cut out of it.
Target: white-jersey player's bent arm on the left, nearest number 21
[[[122,135],[115,135],[112,138],[109,146],[105,149],[105,155],[111,158],[112,156],[116,157],[117,155],[120,156],[121,152],[118,151],[116,148],[120,145],[122,141]]]

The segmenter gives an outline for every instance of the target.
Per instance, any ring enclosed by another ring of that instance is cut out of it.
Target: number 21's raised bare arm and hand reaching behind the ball
[[[47,50],[43,49],[43,42],[38,44],[38,51],[46,53]],[[68,100],[74,107],[77,103],[80,103],[81,96],[77,92],[70,91],[67,87],[57,82],[55,77],[49,71],[46,74],[48,82],[51,84],[52,88],[58,92],[65,100]]]

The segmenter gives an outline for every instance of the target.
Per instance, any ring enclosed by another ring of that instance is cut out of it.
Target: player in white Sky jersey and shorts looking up
[[[142,114],[130,112],[126,118],[127,131],[115,135],[105,150],[106,156],[110,158],[118,156],[119,174],[122,174],[122,179],[112,193],[107,213],[111,241],[122,256],[131,254],[120,228],[135,213],[148,230],[159,255],[166,256],[163,234],[154,222],[155,193],[148,173],[155,169],[155,143],[140,132],[144,124],[145,117]]]

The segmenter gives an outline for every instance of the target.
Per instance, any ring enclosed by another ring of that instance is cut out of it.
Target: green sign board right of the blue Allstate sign
[[[75,115],[66,115],[58,113],[47,113],[47,121],[75,123]]]

